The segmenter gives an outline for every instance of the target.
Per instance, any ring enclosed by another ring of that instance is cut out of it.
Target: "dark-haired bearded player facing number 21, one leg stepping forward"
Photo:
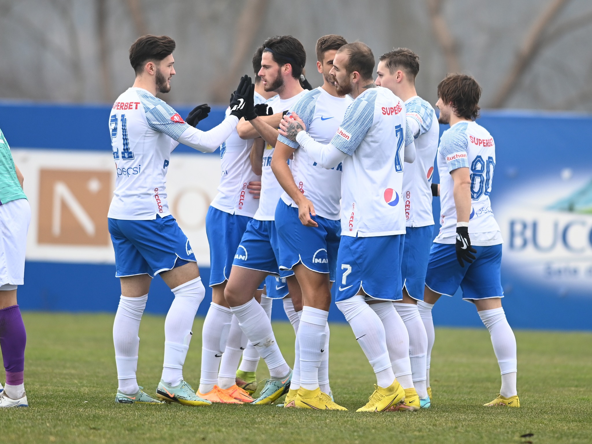
[[[254,404],[270,404],[286,393],[292,370],[279,351],[271,320],[253,298],[253,292],[268,274],[272,274],[287,278],[291,297],[298,296],[300,301],[300,287],[293,272],[280,273],[278,268],[279,253],[274,217],[282,188],[271,170],[271,158],[278,139],[277,128],[281,113],[288,110],[305,92],[300,85],[300,76],[306,62],[306,52],[302,43],[292,36],[268,38],[263,46],[259,76],[266,91],[278,93],[266,102],[276,114],[266,118],[257,115],[252,118],[249,115],[237,126],[243,139],[261,136],[267,145],[263,152],[259,209],[244,231],[224,291],[226,301],[239,320],[241,329],[269,368],[270,378],[259,397],[253,401]],[[269,288],[268,296],[271,296]],[[295,311],[300,311],[300,308]]]

